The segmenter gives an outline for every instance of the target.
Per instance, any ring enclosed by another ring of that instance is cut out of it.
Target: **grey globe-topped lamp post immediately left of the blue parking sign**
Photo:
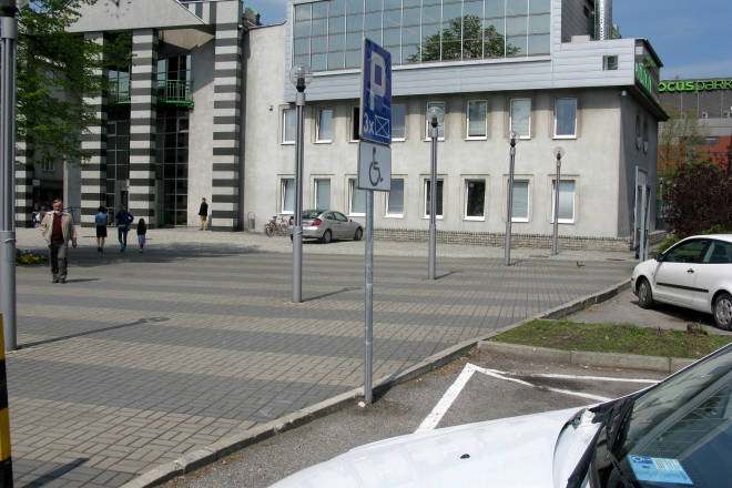
[[[313,70],[297,64],[289,70],[289,81],[297,89],[295,99],[297,133],[295,135],[295,220],[293,222],[293,303],[303,302],[303,122],[305,88],[313,81]]]

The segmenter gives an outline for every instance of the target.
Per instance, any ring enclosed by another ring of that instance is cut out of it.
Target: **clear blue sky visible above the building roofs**
[[[287,0],[244,0],[262,23],[286,18]],[[624,38],[645,38],[661,58],[661,78],[732,78],[732,0],[614,0]]]

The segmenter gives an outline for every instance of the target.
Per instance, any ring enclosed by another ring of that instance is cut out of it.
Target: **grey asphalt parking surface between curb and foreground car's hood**
[[[347,408],[231,456],[166,487],[267,487],[301,469],[347,450],[394,436],[413,434],[455,383],[466,364],[506,372],[526,386],[475,373],[441,418],[438,428],[491,420],[569,407],[593,400],[560,394],[549,388],[616,398],[660,380],[662,374],[584,368],[576,365],[529,363],[474,349],[469,357],[454,362],[416,380],[395,387],[373,406]],[[576,377],[547,378],[556,374]],[[619,382],[603,382],[608,377]],[[628,380],[648,379],[649,383]]]

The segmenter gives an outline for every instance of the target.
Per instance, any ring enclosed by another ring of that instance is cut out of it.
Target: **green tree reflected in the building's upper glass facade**
[[[519,51],[519,48],[506,45],[506,38],[494,26],[484,29],[478,16],[464,16],[451,19],[449,27],[440,32],[427,35],[417,52],[407,57],[407,61],[502,58],[516,55]]]

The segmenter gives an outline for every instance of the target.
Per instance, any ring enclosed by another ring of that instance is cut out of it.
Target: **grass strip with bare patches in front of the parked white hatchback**
[[[698,359],[732,343],[732,336],[708,334],[703,325],[694,325],[692,331],[653,329],[632,324],[532,321],[497,335],[490,340],[562,350],[690,359]]]

